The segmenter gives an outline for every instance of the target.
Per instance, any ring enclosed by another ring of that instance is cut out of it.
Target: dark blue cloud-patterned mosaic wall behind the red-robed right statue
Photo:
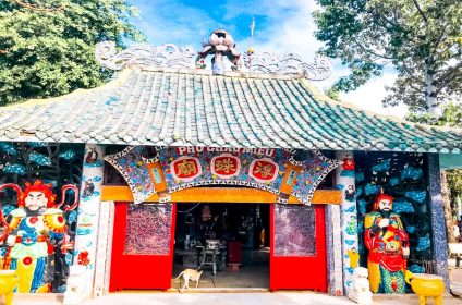
[[[384,193],[394,197],[393,211],[399,213],[408,232],[411,254],[408,268],[412,272],[433,273],[431,217],[427,194],[426,158],[422,154],[358,152],[356,162],[356,197],[358,209],[361,266],[367,266],[364,246],[364,216],[374,199]]]

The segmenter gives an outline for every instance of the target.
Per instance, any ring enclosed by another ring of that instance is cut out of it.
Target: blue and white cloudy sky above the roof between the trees
[[[151,45],[175,44],[200,49],[203,37],[211,30],[224,28],[234,38],[238,49],[243,52],[251,45],[250,25],[255,17],[253,47],[256,52],[268,51],[277,54],[297,53],[306,62],[314,59],[321,44],[313,33],[316,29],[312,13],[316,9],[314,0],[129,0],[139,11],[133,23],[143,30]],[[327,89],[348,70],[333,61],[335,71],[327,81],[315,85]],[[405,112],[403,108],[381,107],[385,85],[392,85],[394,73],[370,80],[362,88],[343,94],[343,100],[357,107],[396,114]],[[402,117],[402,115],[401,115]]]

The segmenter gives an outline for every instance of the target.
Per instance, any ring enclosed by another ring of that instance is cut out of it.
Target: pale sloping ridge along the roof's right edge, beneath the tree
[[[327,102],[327,103],[333,103],[333,105],[350,108],[350,109],[353,109],[353,110],[356,110],[356,111],[363,111],[367,115],[376,117],[378,119],[382,119],[382,120],[386,120],[386,121],[393,121],[393,122],[401,123],[401,124],[410,124],[412,126],[418,126],[418,127],[423,127],[425,130],[436,129],[436,130],[440,130],[440,131],[451,131],[451,132],[454,132],[454,133],[462,134],[462,129],[414,123],[414,122],[401,119],[397,115],[387,115],[387,114],[381,114],[381,113],[374,112],[374,111],[370,111],[370,110],[367,110],[367,109],[363,109],[363,108],[357,107],[356,105],[353,105],[353,103],[348,102],[348,101],[337,101],[335,99],[331,99],[327,95],[323,94],[308,80],[302,78],[302,80],[300,80],[300,83],[302,84],[303,87],[305,87],[313,95],[313,97],[316,100],[319,100],[319,101],[324,101],[324,102]]]

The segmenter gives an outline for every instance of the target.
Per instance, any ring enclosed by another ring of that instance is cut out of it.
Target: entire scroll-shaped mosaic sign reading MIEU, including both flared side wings
[[[227,147],[163,147],[153,154],[147,147],[130,146],[105,159],[125,179],[135,204],[154,194],[154,185],[161,185],[165,176],[169,193],[227,184],[280,195],[290,185],[291,195],[308,205],[323,179],[341,163],[319,151]],[[147,163],[158,163],[159,168],[154,167],[149,172]],[[282,185],[289,163],[292,168],[288,169],[287,185]]]

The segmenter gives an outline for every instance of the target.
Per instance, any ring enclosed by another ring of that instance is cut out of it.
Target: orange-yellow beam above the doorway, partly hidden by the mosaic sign
[[[109,186],[101,187],[102,202],[133,202],[133,195],[129,186]],[[157,194],[150,196],[146,202],[158,202]],[[173,203],[254,203],[254,204],[273,204],[277,195],[257,188],[243,187],[193,187],[178,191],[171,194]],[[340,204],[342,202],[342,192],[340,190],[317,190],[313,196],[312,204]],[[290,196],[289,204],[300,204],[300,202]]]

